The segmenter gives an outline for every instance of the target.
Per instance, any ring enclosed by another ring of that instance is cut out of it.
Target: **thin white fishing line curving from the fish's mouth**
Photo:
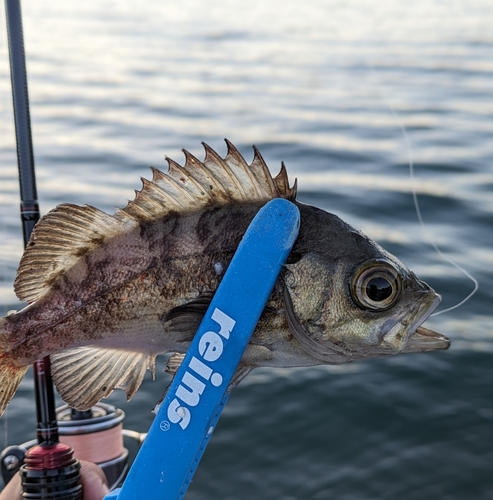
[[[372,64],[369,61],[367,61],[366,64],[367,64],[367,67],[370,71],[372,78],[376,79],[375,71],[373,69]],[[379,88],[379,87],[377,86],[377,88]],[[380,93],[380,99],[383,101],[385,106],[387,106],[387,108],[390,110],[392,116],[394,117],[395,122],[397,123],[397,125],[401,131],[402,137],[404,137],[404,142],[406,144],[406,150],[407,150],[407,158],[408,158],[408,163],[409,163],[409,178],[411,180],[411,190],[412,190],[414,208],[416,209],[416,215],[418,217],[418,221],[419,221],[419,224],[421,226],[421,231],[423,233],[425,241],[428,242],[433,247],[435,252],[445,262],[448,262],[451,266],[455,267],[458,271],[460,271],[466,278],[468,278],[474,284],[474,289],[472,290],[472,292],[470,292],[469,295],[467,295],[459,303],[455,304],[454,306],[447,307],[446,309],[443,309],[441,311],[437,311],[437,312],[432,314],[432,316],[438,316],[439,314],[453,311],[454,309],[457,309],[458,307],[465,304],[478,291],[479,283],[476,280],[476,278],[474,278],[468,271],[466,271],[463,267],[461,267],[459,264],[454,262],[451,258],[444,255],[444,253],[438,248],[438,245],[435,243],[435,240],[433,239],[433,237],[429,235],[429,233],[425,227],[423,216],[421,215],[421,208],[419,206],[419,201],[418,201],[418,194],[417,194],[417,189],[416,189],[416,178],[414,175],[414,161],[413,161],[411,141],[409,140],[409,137],[408,137],[407,132],[406,132],[406,128],[404,127],[404,124],[402,123],[402,121],[401,121],[399,115],[397,114],[397,112],[395,111],[395,109],[392,107],[392,105],[390,103],[387,102],[386,98],[381,93]]]

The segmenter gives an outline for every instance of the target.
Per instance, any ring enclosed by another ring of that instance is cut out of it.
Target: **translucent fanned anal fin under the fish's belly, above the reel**
[[[77,347],[51,355],[56,388],[77,410],[88,410],[114,389],[123,389],[130,400],[148,368],[154,377],[154,367],[154,354],[119,349]]]

